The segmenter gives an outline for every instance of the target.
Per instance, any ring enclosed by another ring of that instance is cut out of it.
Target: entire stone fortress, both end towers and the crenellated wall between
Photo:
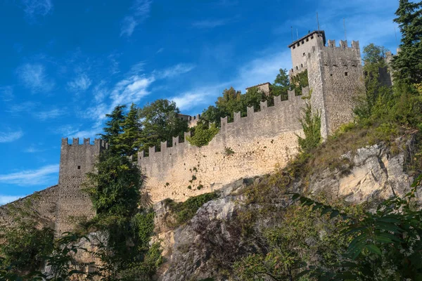
[[[259,112],[250,107],[247,117],[236,112],[231,123],[223,118],[219,133],[202,148],[177,137],[171,143],[162,143],[160,148],[150,148],[148,156],[139,152],[136,160],[148,177],[145,188],[151,202],[167,197],[183,201],[238,178],[285,166],[298,152],[297,134],[302,133],[299,118],[305,105],[302,97],[309,93],[312,107],[321,113],[324,138],[352,119],[354,96],[363,87],[359,43],[353,41],[349,47],[347,41],[340,41],[340,46],[328,41],[326,46],[324,31],[314,31],[288,47],[293,61],[290,77],[308,71],[309,88],[302,89],[302,96],[289,91],[288,100],[275,97],[274,106],[263,102]],[[260,85],[269,88],[267,83]],[[187,118],[192,125],[199,116],[180,118]],[[97,156],[107,148],[101,140],[91,145],[88,138],[80,145],[78,138],[72,144],[63,139],[58,185],[38,192],[42,199],[39,208],[56,222],[58,233],[72,228],[72,217],[94,216],[81,184],[85,174],[93,171]]]

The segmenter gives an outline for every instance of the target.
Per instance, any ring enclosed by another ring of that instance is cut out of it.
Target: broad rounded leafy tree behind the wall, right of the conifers
[[[162,141],[171,141],[174,136],[183,136],[188,122],[179,117],[179,108],[170,100],[155,100],[139,109],[141,138],[139,150],[160,146]]]

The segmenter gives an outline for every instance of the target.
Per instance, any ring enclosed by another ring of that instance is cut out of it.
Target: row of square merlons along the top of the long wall
[[[228,122],[228,117],[221,118],[221,127],[217,135],[234,129],[238,124],[247,124],[248,122],[266,119],[267,113],[271,115],[286,115],[286,112],[290,112],[292,116],[299,118],[300,107],[304,104],[302,97],[307,95],[309,95],[309,87],[302,88],[302,96],[296,96],[295,91],[288,91],[288,100],[281,100],[281,96],[275,96],[274,105],[272,106],[268,106],[267,101],[263,101],[260,103],[260,109],[257,112],[255,112],[253,107],[248,107],[245,117],[241,117],[241,112],[234,112],[233,122]],[[295,112],[292,112],[293,108],[296,110]],[[280,126],[283,126],[283,123]],[[165,141],[160,146],[148,148],[148,155],[146,151],[141,150],[138,152],[138,162],[141,163],[144,160],[148,160],[148,158],[158,157],[163,152],[170,154],[172,152],[179,152],[182,148],[186,148],[186,145],[191,146],[186,141],[186,136],[191,136],[191,132],[185,132],[184,138],[175,136],[172,138],[172,141]]]

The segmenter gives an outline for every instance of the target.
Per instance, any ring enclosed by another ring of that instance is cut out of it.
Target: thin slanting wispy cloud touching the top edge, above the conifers
[[[120,36],[131,37],[136,26],[141,24],[146,18],[149,17],[151,12],[152,0],[135,0],[131,8],[130,15],[127,15],[122,20],[122,28]]]

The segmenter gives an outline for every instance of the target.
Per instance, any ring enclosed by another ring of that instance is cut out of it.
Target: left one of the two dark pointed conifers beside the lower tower
[[[111,114],[106,114],[106,117],[109,119],[106,122],[106,126],[103,128],[104,133],[99,133],[98,136],[101,137],[110,145],[110,149],[114,150],[114,146],[118,144],[118,138],[120,133],[122,133],[122,124],[124,122],[124,109],[126,105],[117,105]]]

